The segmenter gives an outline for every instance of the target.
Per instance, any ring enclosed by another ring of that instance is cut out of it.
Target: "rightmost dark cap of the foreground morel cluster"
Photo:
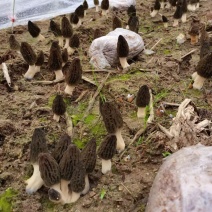
[[[96,165],[96,139],[92,138],[81,152],[81,161],[86,173],[91,173]]]

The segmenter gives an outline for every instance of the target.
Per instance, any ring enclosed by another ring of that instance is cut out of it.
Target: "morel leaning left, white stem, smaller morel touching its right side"
[[[27,42],[21,43],[20,52],[24,58],[24,60],[28,63],[29,68],[27,72],[24,74],[26,79],[32,79],[36,74],[35,63],[36,63],[36,54],[33,51],[32,47]]]

